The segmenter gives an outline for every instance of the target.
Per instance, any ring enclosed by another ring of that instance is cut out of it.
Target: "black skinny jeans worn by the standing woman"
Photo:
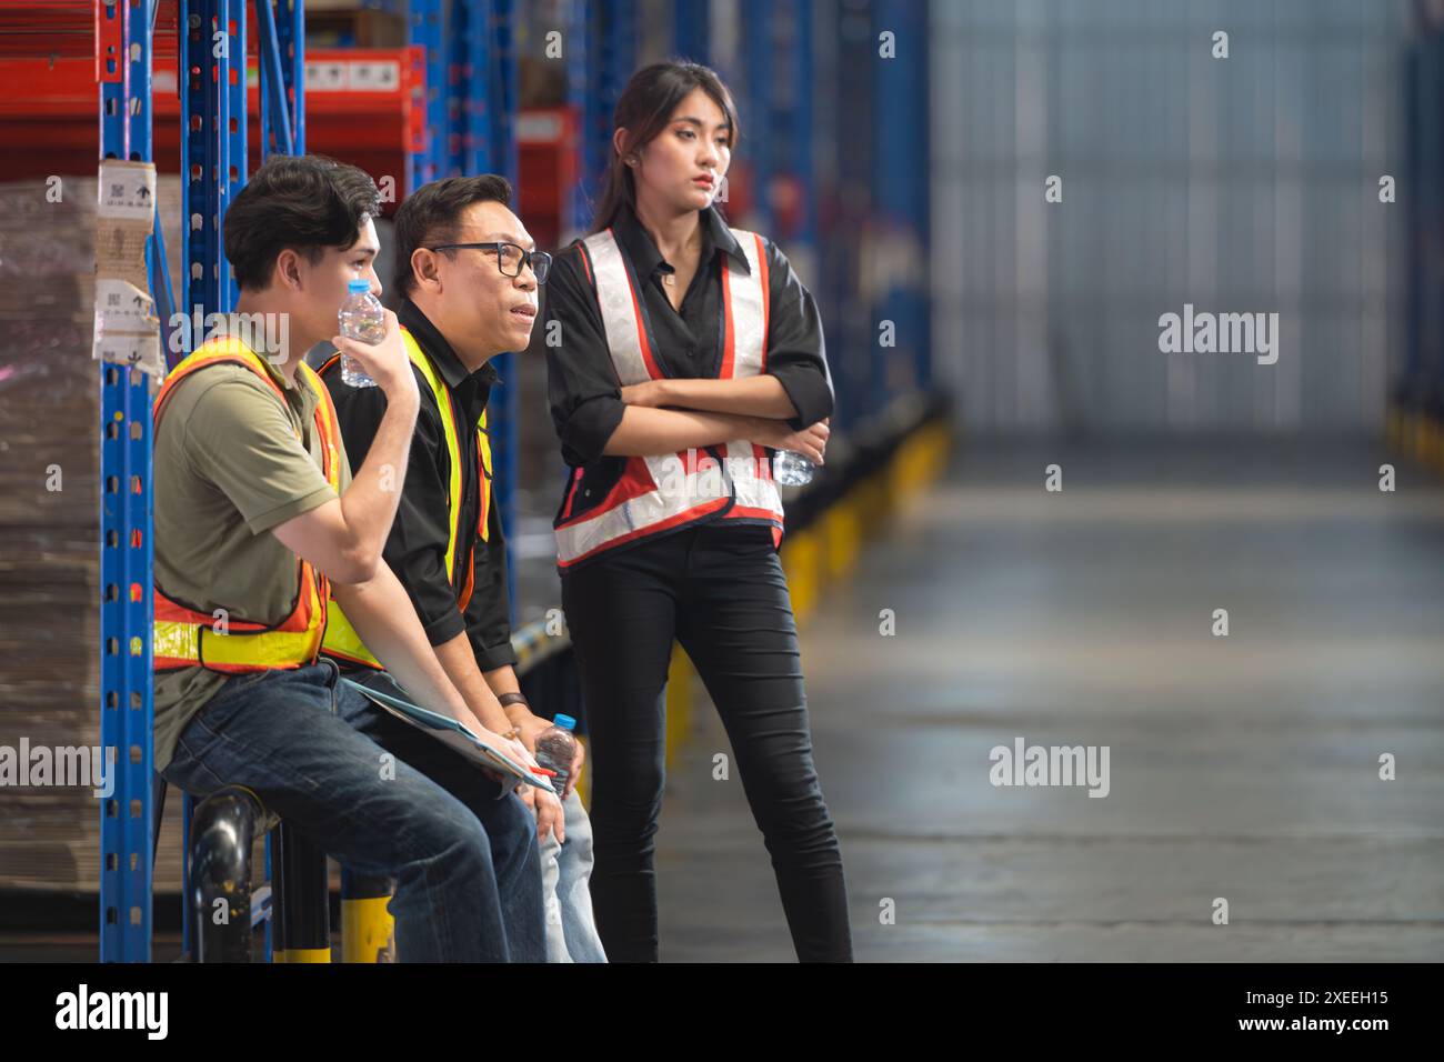
[[[562,577],[591,734],[592,907],[612,962],[657,961],[653,838],[676,637],[726,727],[801,961],[852,961],[842,852],[813,767],[797,626],[771,529],[713,523]]]

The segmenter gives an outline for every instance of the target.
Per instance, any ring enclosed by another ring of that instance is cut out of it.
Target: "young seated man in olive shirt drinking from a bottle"
[[[485,730],[380,561],[420,399],[394,315],[380,345],[335,337],[347,282],[377,283],[377,211],[365,173],[310,156],[271,159],[227,210],[225,253],[241,289],[232,321],[264,315],[283,322],[267,334],[286,338],[264,354],[230,344],[234,361],[182,364],[162,394],[156,597],[217,623],[192,624],[186,643],[157,610],[157,764],[196,796],[245,786],[344,865],[394,877],[403,961],[540,961],[540,863],[518,796],[338,683],[335,665],[313,653],[257,668],[271,659],[257,649],[240,673],[217,663],[245,644],[228,637],[293,621],[313,568],[420,704]],[[316,438],[312,413],[318,399],[323,412],[329,403],[302,366],[331,337],[388,397],[354,478],[339,436]],[[520,743],[492,740],[527,759]]]

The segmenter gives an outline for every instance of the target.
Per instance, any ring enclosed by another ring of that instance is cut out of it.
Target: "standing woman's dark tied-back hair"
[[[627,142],[621,152],[617,150],[615,144],[611,149],[606,176],[602,178],[601,202],[592,218],[593,233],[601,233],[617,221],[624,205],[637,207],[637,186],[631,166],[622,159],[656,140],[657,134],[667,127],[677,104],[696,88],[712,97],[712,103],[726,116],[732,146],[736,147],[736,139],[741,134],[736,107],[732,104],[732,94],[726,91],[726,85],[722,84],[716,71],[684,59],[669,59],[643,66],[631,75],[627,88],[617,100],[615,111],[612,111],[612,131],[625,129]]]

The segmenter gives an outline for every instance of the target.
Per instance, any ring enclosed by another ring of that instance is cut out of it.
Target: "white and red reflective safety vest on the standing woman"
[[[758,376],[767,368],[767,254],[755,233],[734,228],[751,273],[723,256],[722,361],[718,379]],[[612,230],[582,241],[582,266],[596,286],[606,345],[622,386],[666,377],[653,355],[643,293]],[[781,540],[783,501],[767,448],[747,439],[656,457],[630,457],[606,497],[578,509],[583,470],[572,470],[554,523],[557,566],[569,568],[608,549],[712,519],[765,522]]]

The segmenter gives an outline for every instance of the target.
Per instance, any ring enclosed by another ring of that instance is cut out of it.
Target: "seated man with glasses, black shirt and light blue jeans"
[[[501,176],[445,178],[413,192],[396,214],[394,285],[407,296],[399,319],[429,361],[435,387],[445,393],[438,396],[427,374],[416,368],[422,412],[383,556],[477,717],[498,731],[514,728],[534,751],[536,738],[552,721],[530,711],[517,682],[505,542],[497,506],[490,503],[484,446],[478,445],[479,422],[498,383],[490,358],[526,350],[537,286],[544,280],[546,267],[530,260],[533,240],[510,201],[511,186]],[[367,454],[390,396],[375,387],[348,387],[335,363],[322,379],[348,451]],[[456,470],[451,467],[452,446],[461,457]],[[459,474],[455,487],[453,471]],[[453,511],[453,490],[459,511]],[[348,666],[345,656],[338,660]],[[349,676],[399,692],[386,672],[365,662]],[[547,955],[554,962],[606,961],[588,890],[591,822],[575,792],[582,759],[579,746],[563,803],[544,792],[523,795],[534,798],[527,803],[536,811],[542,838]]]

